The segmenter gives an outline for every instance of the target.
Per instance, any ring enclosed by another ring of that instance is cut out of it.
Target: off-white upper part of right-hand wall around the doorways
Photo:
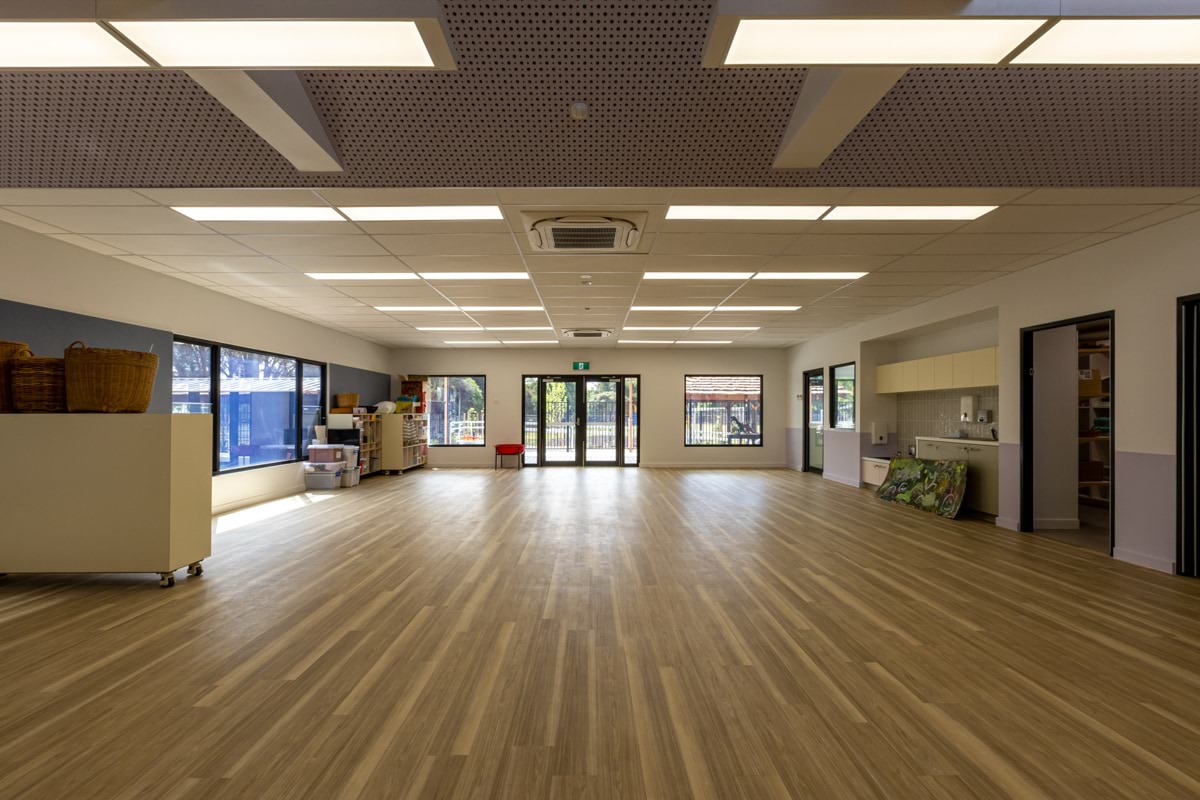
[[[1200,209],[1198,209],[1200,211]],[[995,308],[1000,347],[1001,519],[1020,505],[1020,331],[1115,311],[1115,555],[1171,570],[1175,558],[1176,299],[1200,293],[1200,225],[1180,217],[788,350],[790,396],[802,372],[858,360],[862,343]],[[803,312],[800,312],[803,313]],[[1160,391],[1146,391],[1160,386]],[[860,404],[862,408],[862,404]],[[790,428],[803,427],[799,403]],[[828,451],[828,441],[826,443]],[[828,452],[826,458],[828,458]]]

